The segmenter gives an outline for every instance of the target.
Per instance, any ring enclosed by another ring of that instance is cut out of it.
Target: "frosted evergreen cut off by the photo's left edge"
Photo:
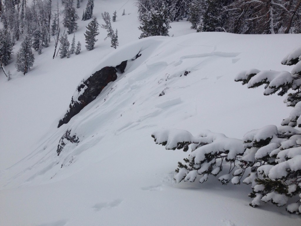
[[[13,54],[14,42],[5,28],[0,29],[0,61],[4,66],[8,64]]]

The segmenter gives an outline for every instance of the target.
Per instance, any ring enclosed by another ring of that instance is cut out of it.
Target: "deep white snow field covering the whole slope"
[[[162,128],[193,135],[209,129],[242,139],[252,129],[279,126],[291,110],[284,97],[263,96],[263,87],[247,89],[234,77],[251,68],[290,71],[280,62],[301,36],[195,33],[179,21],[171,24],[170,37],[138,40],[134,4],[95,1],[100,24],[102,12],[117,11],[116,50],[100,28],[96,48],[87,51],[83,33],[89,21],[79,21],[79,55],[52,59],[52,40],[42,55],[35,52],[25,76],[16,72],[14,59],[6,68],[12,80],[0,74],[0,225],[300,226],[301,218],[284,207],[250,207],[250,186],[224,186],[215,177],[176,184],[177,162],[188,153],[165,150],[151,134]],[[138,52],[124,74],[57,128],[82,79]],[[185,71],[190,73],[184,76]],[[57,156],[66,130],[79,143],[68,143]]]

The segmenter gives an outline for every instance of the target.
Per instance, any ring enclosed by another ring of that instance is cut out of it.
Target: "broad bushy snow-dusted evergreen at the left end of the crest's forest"
[[[139,30],[142,31],[139,39],[149,37],[149,36],[169,36],[168,30],[171,23],[170,8],[166,7],[163,3],[159,8],[159,11],[151,9],[141,16],[141,26]]]

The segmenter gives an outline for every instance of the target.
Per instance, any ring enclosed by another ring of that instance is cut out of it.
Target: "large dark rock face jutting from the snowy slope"
[[[126,62],[127,61],[123,61],[120,64],[122,65],[122,67],[119,67],[120,71],[124,72]],[[108,83],[115,81],[117,79],[116,72],[116,67],[104,67],[92,74],[87,80],[82,81],[77,87],[77,91],[78,93],[81,93],[82,89],[84,89],[84,91],[78,96],[77,100],[74,100],[72,97],[71,104],[69,105],[70,109],[64,118],[59,121],[57,127],[68,123],[74,115],[78,114],[88,103],[92,102]]]

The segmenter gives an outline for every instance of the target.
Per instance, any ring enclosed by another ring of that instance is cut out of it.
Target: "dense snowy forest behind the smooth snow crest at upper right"
[[[300,33],[300,0],[138,0],[143,20],[147,11],[162,12],[171,20],[187,17],[197,31],[225,31],[237,34]]]

